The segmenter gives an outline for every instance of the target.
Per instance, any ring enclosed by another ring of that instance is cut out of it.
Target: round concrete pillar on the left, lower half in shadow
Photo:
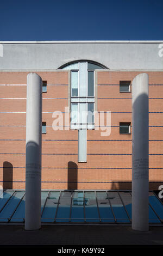
[[[27,75],[25,229],[41,228],[42,79]]]

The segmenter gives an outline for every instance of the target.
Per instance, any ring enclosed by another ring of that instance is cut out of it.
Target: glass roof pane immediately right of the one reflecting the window
[[[85,218],[86,222],[99,222],[95,192],[85,192]]]

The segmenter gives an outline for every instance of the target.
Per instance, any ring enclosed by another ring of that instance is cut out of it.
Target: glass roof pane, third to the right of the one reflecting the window
[[[110,199],[117,223],[130,223],[118,193],[109,191],[108,197]]]

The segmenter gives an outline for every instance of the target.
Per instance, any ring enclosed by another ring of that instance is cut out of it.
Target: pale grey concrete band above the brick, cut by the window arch
[[[0,70],[58,69],[74,60],[86,59],[109,69],[163,69],[159,45],[163,41],[0,41]],[[163,44],[162,44],[163,48]],[[3,55],[3,56],[2,56]]]

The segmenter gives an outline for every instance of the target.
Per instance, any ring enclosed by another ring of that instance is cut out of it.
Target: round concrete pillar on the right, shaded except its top
[[[133,96],[132,228],[148,231],[148,75],[137,75]]]

